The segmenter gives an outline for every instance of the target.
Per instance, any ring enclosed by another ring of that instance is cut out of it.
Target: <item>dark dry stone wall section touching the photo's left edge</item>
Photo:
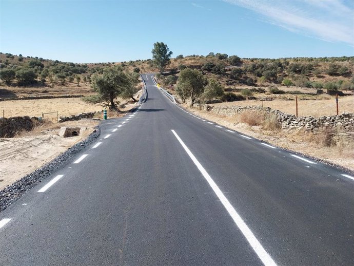
[[[0,138],[11,138],[18,131],[30,131],[40,122],[41,118],[36,117],[0,118]]]

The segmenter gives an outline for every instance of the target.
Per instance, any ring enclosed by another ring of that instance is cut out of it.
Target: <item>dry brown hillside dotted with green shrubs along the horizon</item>
[[[120,63],[75,64],[48,60],[22,54],[0,53],[0,71],[6,70],[11,77],[2,74],[0,98],[16,98],[43,95],[89,95],[91,75],[101,73],[107,66],[120,66],[127,71],[157,72],[152,60]],[[171,59],[163,76],[163,86],[176,84],[178,72],[186,67],[202,70],[208,80],[217,80],[225,91],[240,92],[253,87],[354,89],[354,56],[341,58],[282,58],[240,59],[238,56],[213,54],[208,56],[179,55]],[[6,74],[6,73],[5,73]],[[22,78],[22,79],[21,79]],[[313,91],[312,91],[313,92]],[[315,91],[316,93],[316,91]]]

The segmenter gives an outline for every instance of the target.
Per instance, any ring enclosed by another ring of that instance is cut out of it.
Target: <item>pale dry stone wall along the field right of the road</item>
[[[282,128],[305,128],[309,131],[318,131],[325,128],[339,129],[344,132],[354,132],[354,113],[343,113],[338,116],[324,116],[320,118],[296,117],[279,110],[271,109],[270,107],[261,106],[210,106],[204,105],[204,111],[215,113],[221,116],[240,115],[243,111],[262,111],[267,114],[277,115],[279,123]]]

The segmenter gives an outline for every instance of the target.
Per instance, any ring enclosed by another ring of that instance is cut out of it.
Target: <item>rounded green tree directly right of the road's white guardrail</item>
[[[195,102],[200,100],[206,84],[207,80],[201,71],[186,68],[180,72],[176,92],[183,102],[190,98],[193,106]]]

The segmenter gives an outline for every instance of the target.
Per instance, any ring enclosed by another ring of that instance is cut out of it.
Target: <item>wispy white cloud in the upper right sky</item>
[[[341,0],[223,0],[270,23],[330,42],[354,46],[354,5]]]

